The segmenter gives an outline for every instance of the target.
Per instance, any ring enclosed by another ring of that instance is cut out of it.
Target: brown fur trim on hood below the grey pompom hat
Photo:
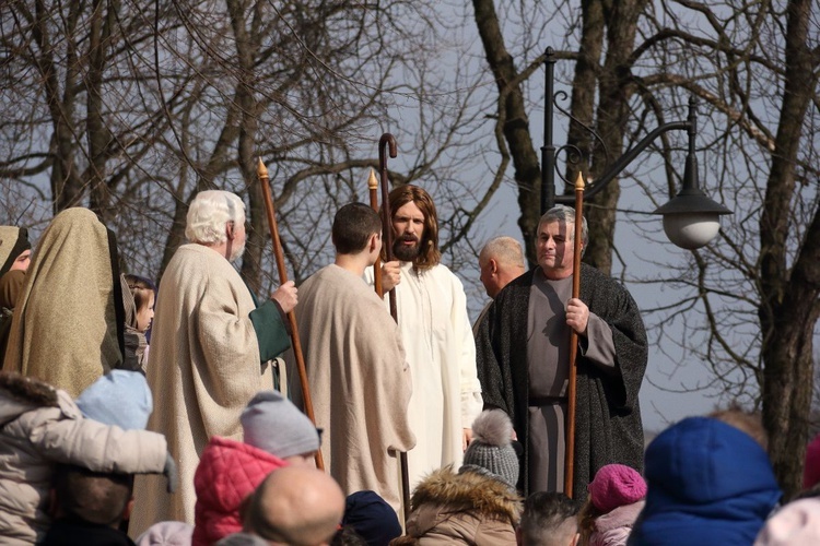
[[[446,506],[449,512],[473,512],[480,518],[508,520],[515,525],[522,514],[522,498],[506,484],[466,471],[445,466],[424,478],[413,491],[412,510],[422,505]]]

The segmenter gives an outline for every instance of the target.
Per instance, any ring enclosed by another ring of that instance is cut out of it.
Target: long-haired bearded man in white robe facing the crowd
[[[408,453],[410,488],[447,464],[460,466],[481,413],[476,342],[458,277],[441,263],[435,204],[423,189],[405,185],[389,195],[394,253],[382,269],[385,290],[396,287],[401,341],[413,378]],[[373,280],[372,270],[368,281]]]

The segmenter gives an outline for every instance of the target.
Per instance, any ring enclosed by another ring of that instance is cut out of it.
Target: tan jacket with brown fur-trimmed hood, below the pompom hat
[[[391,545],[515,545],[522,498],[490,476],[446,466],[419,484],[410,503],[407,534]]]

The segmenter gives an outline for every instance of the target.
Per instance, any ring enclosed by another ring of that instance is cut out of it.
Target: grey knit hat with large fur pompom
[[[464,454],[465,471],[483,474],[515,489],[518,483],[518,455],[512,446],[513,423],[501,410],[487,410],[472,423],[472,441]]]

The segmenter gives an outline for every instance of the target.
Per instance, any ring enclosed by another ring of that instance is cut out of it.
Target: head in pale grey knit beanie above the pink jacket
[[[313,464],[319,449],[319,432],[311,419],[279,392],[258,393],[248,402],[239,420],[245,443],[290,465]]]

